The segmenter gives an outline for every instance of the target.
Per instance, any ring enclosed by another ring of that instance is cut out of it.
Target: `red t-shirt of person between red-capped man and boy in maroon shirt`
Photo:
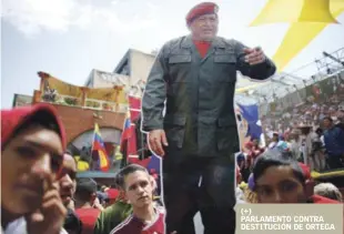
[[[81,234],[93,234],[97,218],[100,214],[98,208],[77,208],[77,215],[82,223]]]

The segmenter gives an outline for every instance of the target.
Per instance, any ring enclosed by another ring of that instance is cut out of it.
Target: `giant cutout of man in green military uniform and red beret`
[[[200,211],[204,233],[235,231],[234,114],[236,71],[254,80],[275,73],[260,48],[216,37],[217,6],[198,4],[186,16],[191,35],[165,43],[142,99],[142,130],[163,156],[166,233],[193,234]],[[164,112],[165,108],[165,113]]]

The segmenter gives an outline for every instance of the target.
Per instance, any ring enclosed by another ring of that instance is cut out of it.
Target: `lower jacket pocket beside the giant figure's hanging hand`
[[[185,116],[168,115],[164,119],[164,130],[170,146],[181,149],[185,136]]]

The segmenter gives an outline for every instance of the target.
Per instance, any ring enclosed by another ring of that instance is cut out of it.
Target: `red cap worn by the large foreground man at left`
[[[13,108],[1,110],[1,151],[8,141],[13,136],[16,130],[33,116],[40,115],[43,119],[51,118],[58,125],[63,151],[65,151],[65,130],[58,118],[58,112],[53,105],[39,103],[30,106]]]

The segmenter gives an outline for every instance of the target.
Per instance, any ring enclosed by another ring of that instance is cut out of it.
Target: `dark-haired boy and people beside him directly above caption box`
[[[244,203],[343,203],[332,183],[315,184],[310,167],[291,152],[269,150],[257,157],[246,183],[236,171],[236,199]]]

